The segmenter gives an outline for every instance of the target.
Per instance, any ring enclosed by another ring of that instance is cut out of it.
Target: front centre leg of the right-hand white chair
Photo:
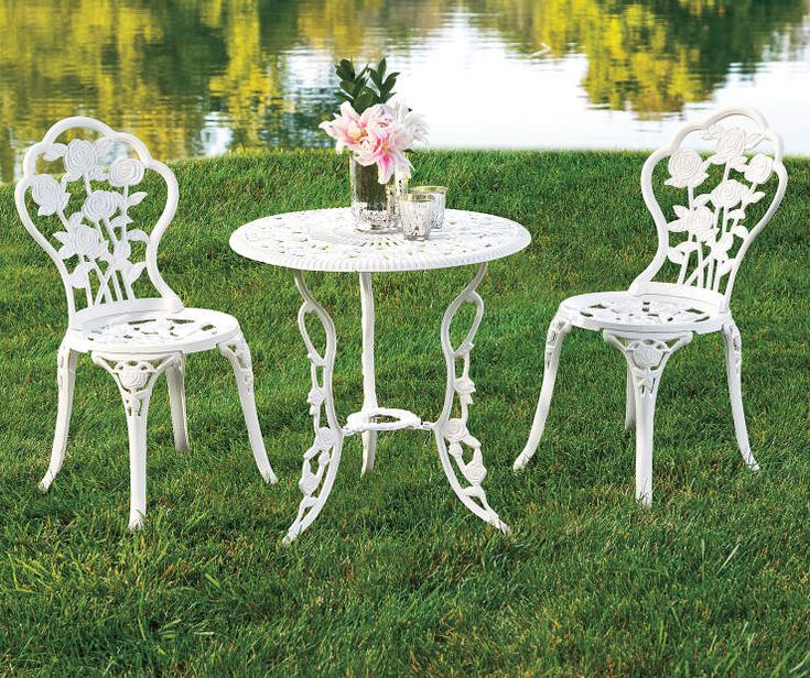
[[[636,499],[652,504],[652,427],[661,373],[670,356],[692,340],[692,333],[657,337],[604,332],[604,339],[627,360],[636,401]]]

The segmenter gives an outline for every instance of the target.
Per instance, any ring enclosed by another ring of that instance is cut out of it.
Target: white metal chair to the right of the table
[[[713,151],[701,153],[706,142]],[[767,152],[756,152],[763,145]],[[646,505],[652,502],[652,423],[661,373],[672,353],[695,333],[723,332],[737,444],[748,468],[759,469],[745,426],[742,342],[728,302],[748,245],[785,195],[781,155],[779,136],[749,109],[723,110],[702,123],[688,124],[650,155],[641,171],[641,192],[658,230],[656,255],[627,292],[583,294],[560,305],[546,340],[543,383],[531,434],[515,460],[516,470],[537,450],[562,341],[573,327],[602,331],[627,360],[625,428],[635,422],[637,500]],[[657,197],[654,171],[663,158],[669,171],[663,184],[670,188],[662,188]],[[671,221],[665,216],[667,206],[674,216]],[[654,281],[659,274],[674,282]]]

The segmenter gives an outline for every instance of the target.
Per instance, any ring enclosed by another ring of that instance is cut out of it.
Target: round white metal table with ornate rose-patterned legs
[[[348,208],[317,209],[264,217],[239,228],[230,238],[231,249],[255,261],[293,269],[295,286],[304,298],[299,311],[299,328],[311,362],[312,389],[307,402],[314,424],[314,442],[304,452],[299,486],[303,500],[285,543],[290,543],[317,517],[328,497],[341,462],[346,436],[363,436],[363,473],[374,467],[377,433],[415,428],[432,430],[439,457],[453,491],[464,505],[483,521],[507,531],[506,524],[487,502],[480,486],[486,468],[480,442],[467,429],[468,407],[475,385],[469,378],[469,353],[484,315],[484,302],[476,292],[487,262],[526,248],[531,240],[519,223],[479,212],[446,211],[444,227],[430,240],[404,240],[401,233],[367,233],[355,229]],[[425,271],[478,264],[469,284],[450,304],[441,326],[441,341],[447,365],[447,387],[439,419],[424,422],[407,409],[380,407],[375,384],[374,295],[371,274],[395,271]],[[335,414],[332,374],[337,338],[326,309],[304,283],[304,271],[359,273],[363,329],[363,408],[341,425]],[[464,303],[476,313],[464,341],[453,347],[450,325]],[[306,331],[307,314],[314,313],[326,333],[326,346],[318,351]],[[458,362],[461,361],[461,372]],[[452,416],[458,398],[458,416]],[[324,422],[325,418],[325,422]],[[455,468],[452,463],[455,461]],[[461,472],[457,475],[456,469]],[[464,485],[462,484],[464,483]]]

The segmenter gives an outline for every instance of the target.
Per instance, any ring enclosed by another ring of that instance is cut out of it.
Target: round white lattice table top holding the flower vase
[[[263,217],[238,228],[230,248],[255,261],[299,271],[378,273],[478,264],[531,242],[522,226],[493,215],[449,209],[430,239],[359,231],[349,208]]]

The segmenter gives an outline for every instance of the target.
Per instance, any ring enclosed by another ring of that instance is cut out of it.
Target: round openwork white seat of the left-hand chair
[[[239,333],[233,316],[205,308],[102,316],[67,331],[82,352],[193,353],[213,349]]]

